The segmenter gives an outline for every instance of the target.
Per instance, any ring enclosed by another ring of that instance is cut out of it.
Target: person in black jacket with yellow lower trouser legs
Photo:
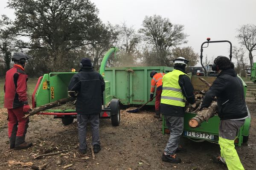
[[[214,60],[212,70],[218,76],[204,96],[202,108],[208,108],[212,100],[217,97],[219,125],[219,145],[221,156],[213,156],[215,162],[227,164],[229,170],[244,170],[236,152],[234,140],[239,129],[248,117],[245,104],[243,83],[237,77],[234,64],[224,56]]]

